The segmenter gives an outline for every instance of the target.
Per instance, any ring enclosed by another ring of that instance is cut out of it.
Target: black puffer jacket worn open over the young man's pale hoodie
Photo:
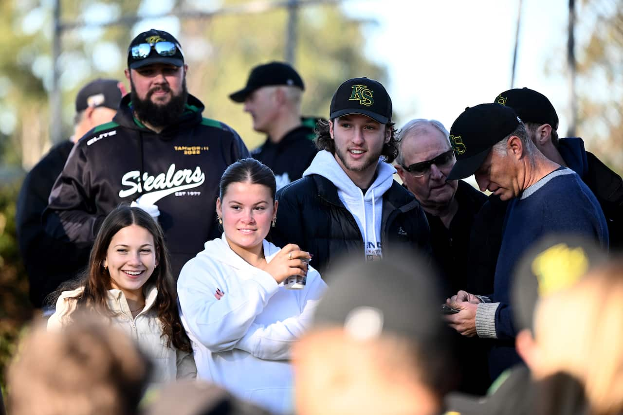
[[[278,191],[277,200],[277,226],[270,232],[272,242],[281,247],[297,244],[310,252],[311,264],[323,279],[342,255],[364,259],[361,231],[329,179],[318,174],[305,176]],[[383,194],[381,244],[383,250],[402,246],[430,255],[430,232],[424,211],[396,181]]]

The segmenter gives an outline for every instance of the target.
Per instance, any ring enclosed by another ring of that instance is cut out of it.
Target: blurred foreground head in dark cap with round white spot
[[[428,414],[451,387],[434,277],[412,253],[334,270],[293,348],[297,413]]]

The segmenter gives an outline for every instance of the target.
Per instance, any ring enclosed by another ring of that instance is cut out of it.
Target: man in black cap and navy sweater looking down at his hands
[[[546,158],[530,140],[510,108],[497,103],[467,108],[450,128],[457,157],[448,179],[475,175],[508,206],[498,255],[493,294],[477,297],[459,291],[448,300],[459,313],[447,316],[450,327],[465,336],[498,339],[489,353],[492,379],[520,359],[511,322],[510,278],[517,259],[549,232],[594,239],[607,249],[606,218],[597,199],[573,170]]]

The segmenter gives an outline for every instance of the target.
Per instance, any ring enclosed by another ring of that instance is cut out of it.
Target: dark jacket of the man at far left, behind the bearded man
[[[56,241],[45,233],[41,222],[50,190],[73,147],[70,140],[52,147],[26,174],[17,198],[19,252],[28,274],[31,302],[37,308],[44,305],[45,297],[59,284],[73,279],[88,260],[88,249],[79,250],[73,244]]]

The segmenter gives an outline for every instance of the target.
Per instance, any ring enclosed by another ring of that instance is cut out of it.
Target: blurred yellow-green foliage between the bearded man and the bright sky
[[[239,3],[229,0],[223,6]],[[228,95],[244,87],[255,65],[285,59],[287,21],[283,9],[184,21],[181,42],[189,92],[206,105],[204,116],[231,125],[249,148],[265,137],[252,130],[250,115]],[[331,96],[346,79],[367,76],[386,81],[384,69],[364,55],[364,30],[361,22],[348,19],[335,5],[300,9],[294,66],[305,82],[303,115],[328,117]],[[199,49],[203,52],[197,53]]]

